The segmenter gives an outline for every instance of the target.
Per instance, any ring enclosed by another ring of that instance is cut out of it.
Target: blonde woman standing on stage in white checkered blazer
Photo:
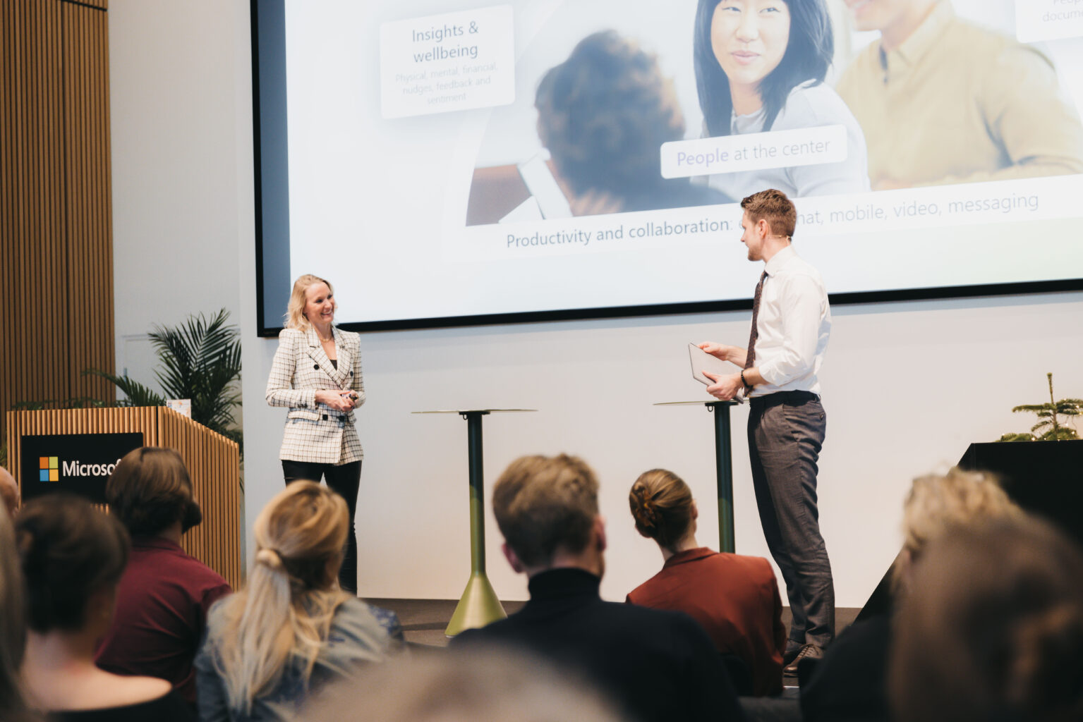
[[[293,283],[286,328],[268,379],[266,401],[288,406],[282,460],[286,483],[327,481],[345,499],[350,531],[339,586],[357,591],[357,487],[364,451],[354,409],[365,403],[361,380],[361,337],[335,328],[335,289],[330,281],[305,274]]]

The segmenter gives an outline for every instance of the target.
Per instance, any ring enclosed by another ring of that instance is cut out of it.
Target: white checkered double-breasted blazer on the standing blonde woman
[[[287,328],[278,334],[278,350],[268,379],[268,404],[288,406],[279,459],[343,464],[364,457],[354,412],[316,404],[321,389],[352,389],[365,403],[361,380],[361,337],[332,327],[338,368],[324,353],[315,329]]]

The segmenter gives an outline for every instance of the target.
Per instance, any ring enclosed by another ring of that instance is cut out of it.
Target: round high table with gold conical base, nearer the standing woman
[[[467,420],[467,464],[470,474],[470,580],[455,606],[444,634],[484,627],[507,617],[485,576],[485,477],[482,473],[481,418],[490,413],[519,413],[537,409],[436,409],[413,413],[458,413]]]

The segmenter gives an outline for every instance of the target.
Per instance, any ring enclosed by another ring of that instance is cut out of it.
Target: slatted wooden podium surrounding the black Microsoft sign
[[[238,589],[244,581],[240,452],[236,442],[207,426],[164,406],[9,411],[10,471],[22,487],[23,464],[38,465],[38,459],[22,458],[24,436],[108,433],[141,433],[144,446],[177,449],[204,515],[203,524],[181,538],[181,547]]]

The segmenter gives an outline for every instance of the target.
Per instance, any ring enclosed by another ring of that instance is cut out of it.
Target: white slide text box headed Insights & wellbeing
[[[507,105],[516,100],[511,5],[380,26],[384,118]]]

